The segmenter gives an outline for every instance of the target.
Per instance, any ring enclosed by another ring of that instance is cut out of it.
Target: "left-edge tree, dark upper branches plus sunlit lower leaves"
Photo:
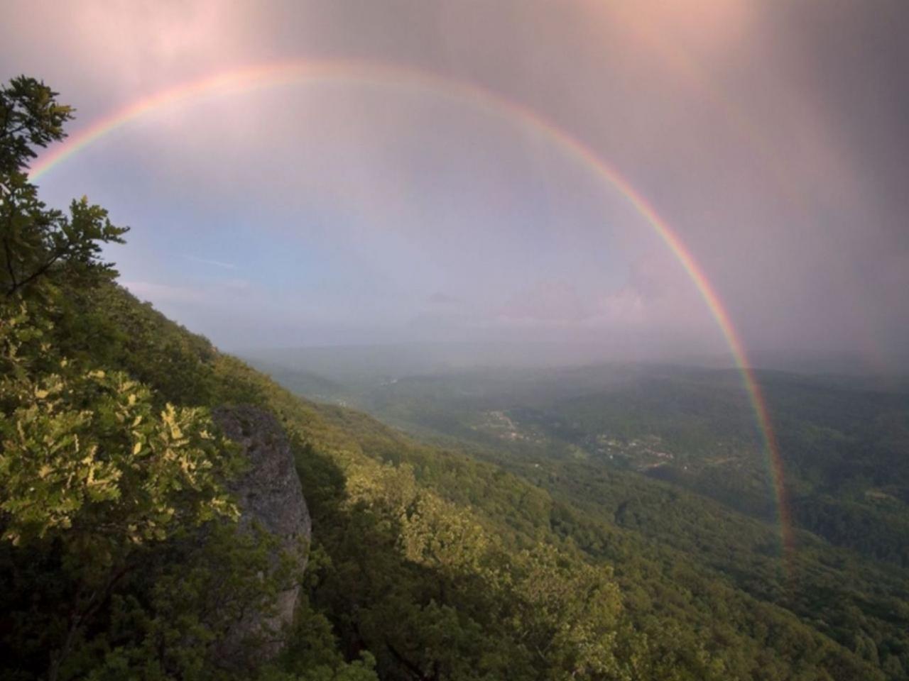
[[[63,139],[72,117],[55,97],[25,76],[0,89],[0,554],[19,577],[52,567],[55,597],[15,627],[23,646],[39,639],[37,654],[50,653],[51,681],[153,548],[238,517],[225,480],[239,466],[207,409],[161,400],[99,366],[100,352],[63,350],[55,322],[113,278],[101,247],[126,228],[85,198],[68,215],[48,209],[28,182],[36,148]]]

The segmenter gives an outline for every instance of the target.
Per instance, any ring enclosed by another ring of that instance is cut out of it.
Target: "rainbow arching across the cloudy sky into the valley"
[[[528,129],[543,134],[548,141],[557,144],[567,156],[573,158],[574,161],[580,163],[590,173],[593,173],[604,183],[619,192],[634,207],[634,210],[666,244],[676,260],[682,265],[688,277],[694,282],[695,288],[704,299],[707,308],[713,315],[729,346],[735,365],[741,373],[744,389],[754,409],[757,425],[761,432],[764,450],[770,467],[770,476],[774,485],[774,497],[784,554],[789,555],[794,547],[793,531],[783,483],[784,469],[779,445],[774,435],[774,429],[771,426],[762,390],[745,354],[744,343],[737,331],[735,331],[729,313],[726,311],[719,294],[711,285],[704,270],[695,261],[694,255],[684,245],[682,239],[660,217],[654,206],[647,202],[640,192],[637,192],[614,167],[605,163],[596,153],[584,146],[574,136],[557,127],[554,123],[547,121],[540,114],[536,114],[532,109],[475,84],[456,81],[398,65],[390,66],[352,61],[294,61],[262,64],[210,75],[166,89],[132,104],[127,104],[75,133],[55,150],[42,155],[31,169],[29,176],[32,181],[40,179],[60,163],[64,163],[67,159],[75,156],[75,154],[105,135],[165,106],[188,103],[203,97],[246,93],[250,90],[274,87],[280,84],[320,81],[352,81],[386,85],[405,84],[408,87],[423,89],[433,94],[445,94],[473,102],[493,114],[515,120]]]

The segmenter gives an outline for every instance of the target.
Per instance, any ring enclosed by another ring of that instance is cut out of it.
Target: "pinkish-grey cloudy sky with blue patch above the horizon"
[[[73,138],[158,97],[36,182],[129,225],[107,252],[121,283],[226,350],[724,353],[630,188],[754,355],[909,364],[899,0],[5,0],[3,14],[0,78],[51,85],[77,110]],[[245,75],[166,96],[219,74]]]

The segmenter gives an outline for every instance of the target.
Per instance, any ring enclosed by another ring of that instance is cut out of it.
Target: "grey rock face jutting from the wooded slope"
[[[238,444],[249,469],[236,479],[231,490],[240,507],[240,526],[247,530],[257,524],[280,539],[282,551],[294,557],[303,572],[309,549],[312,522],[300,479],[294,466],[294,456],[284,429],[274,416],[254,407],[232,407],[215,410],[212,416],[227,438]],[[278,555],[275,554],[275,565]],[[279,632],[294,619],[300,586],[295,583],[277,598],[275,617],[253,614],[238,622],[224,642],[225,657],[230,657],[235,641],[249,634]],[[260,656],[275,656],[283,646],[282,640],[270,640]],[[260,659],[261,661],[261,659]]]

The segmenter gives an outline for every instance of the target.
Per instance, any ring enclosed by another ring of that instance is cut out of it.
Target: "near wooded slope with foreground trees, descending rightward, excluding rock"
[[[905,677],[895,566],[804,536],[787,567],[772,528],[718,503],[424,444],[166,320],[100,260],[125,230],[28,182],[71,112],[29,79],[0,94],[3,678]],[[225,668],[233,619],[281,586],[227,491],[245,462],[211,410],[240,404],[290,438],[312,547],[283,577],[305,594],[285,652]]]

